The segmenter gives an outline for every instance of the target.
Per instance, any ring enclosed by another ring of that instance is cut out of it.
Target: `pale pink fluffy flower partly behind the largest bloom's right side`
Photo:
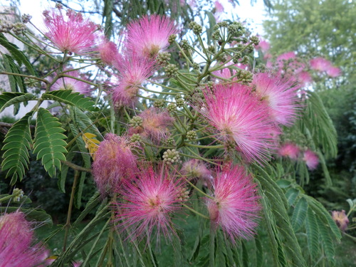
[[[256,74],[251,84],[258,97],[268,105],[272,119],[281,125],[291,125],[298,111],[292,84],[268,73]]]

